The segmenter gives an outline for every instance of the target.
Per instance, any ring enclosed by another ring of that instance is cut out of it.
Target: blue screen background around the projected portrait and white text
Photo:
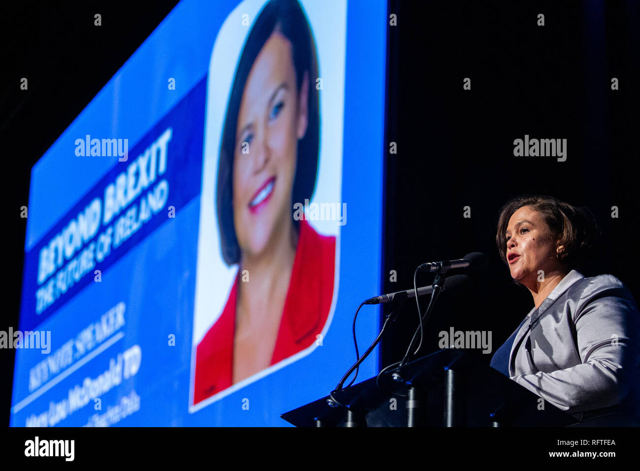
[[[17,350],[12,426],[286,426],[280,414],[327,395],[355,361],[353,313],[363,299],[380,293],[387,149],[384,1],[348,2],[346,58],[336,59],[346,62],[342,202],[349,219],[340,231],[339,294],[323,345],[189,411],[204,84],[216,33],[237,4],[182,1],[33,167],[19,328],[50,331],[51,352]],[[178,84],[170,93],[167,77]],[[37,315],[40,247],[78,208],[101,197],[104,185],[167,128],[173,129],[170,163],[158,181],[166,179],[169,188],[163,214],[171,205],[175,217],[152,217],[99,267],[99,283],[88,275],[89,282]],[[85,135],[128,138],[129,161],[74,155],[74,142]],[[182,161],[175,160],[178,155]],[[120,303],[124,315],[118,318],[113,310]],[[360,313],[361,344],[376,336],[379,319],[379,308]],[[102,342],[83,343],[80,334],[90,326],[93,335],[97,329],[106,335]],[[43,361],[49,373],[34,379],[34,368]],[[374,354],[359,379],[373,376],[378,367]],[[78,392],[89,383],[84,390],[93,388],[96,397]]]

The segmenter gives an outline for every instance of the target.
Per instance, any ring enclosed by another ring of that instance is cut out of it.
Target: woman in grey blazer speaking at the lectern
[[[491,366],[585,426],[640,425],[640,319],[611,275],[576,270],[593,245],[588,210],[552,197],[509,201],[496,243],[534,308],[493,355]]]

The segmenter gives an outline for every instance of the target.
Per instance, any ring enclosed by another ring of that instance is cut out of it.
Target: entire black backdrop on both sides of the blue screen
[[[0,330],[17,329],[26,229],[20,206],[28,204],[31,167],[175,4],[3,4],[8,240]],[[495,351],[532,307],[495,247],[500,207],[515,195],[548,194],[593,211],[602,238],[585,274],[613,274],[637,298],[638,3],[390,0],[389,10],[397,26],[388,26],[386,141],[396,142],[397,154],[386,163],[383,290],[412,288],[413,270],[426,261],[475,251],[489,257],[465,293],[438,300],[422,352],[435,351],[438,332],[450,326],[492,331]],[[545,26],[537,26],[538,13]],[[620,90],[611,90],[612,77]],[[471,90],[463,90],[464,78]],[[567,160],[514,157],[513,140],[525,134],[566,138]],[[421,274],[418,284],[432,278]],[[401,358],[416,324],[415,302],[407,302],[383,343],[385,365]],[[9,420],[14,354],[0,350],[0,425]]]

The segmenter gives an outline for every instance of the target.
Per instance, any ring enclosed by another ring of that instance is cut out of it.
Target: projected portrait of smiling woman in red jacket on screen
[[[264,6],[246,39],[223,123],[215,207],[237,277],[196,347],[194,404],[316,342],[330,313],[335,237],[295,218],[319,154],[316,46],[296,0]]]

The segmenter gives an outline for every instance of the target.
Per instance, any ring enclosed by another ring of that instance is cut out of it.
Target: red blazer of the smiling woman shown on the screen
[[[316,341],[329,316],[335,275],[335,237],[322,236],[300,221],[300,237],[271,365]],[[225,309],[196,347],[193,404],[232,385],[236,296],[239,277]]]

